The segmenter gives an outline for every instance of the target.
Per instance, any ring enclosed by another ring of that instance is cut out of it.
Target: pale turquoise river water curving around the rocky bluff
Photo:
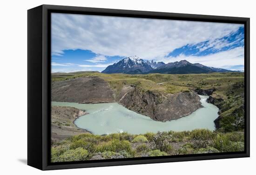
[[[128,132],[143,134],[157,131],[191,131],[193,129],[214,130],[214,120],[218,117],[219,109],[206,102],[208,96],[199,95],[203,108],[180,119],[160,122],[147,116],[128,110],[118,103],[78,104],[67,102],[52,102],[53,106],[71,106],[86,110],[87,115],[81,116],[74,124],[93,134],[110,134]]]

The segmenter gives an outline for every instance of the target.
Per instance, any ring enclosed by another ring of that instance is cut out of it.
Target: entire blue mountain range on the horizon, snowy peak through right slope
[[[213,72],[233,72],[227,69],[213,68],[204,66],[200,63],[189,63],[181,60],[173,63],[151,62],[140,59],[138,56],[129,56],[120,60],[118,63],[108,66],[102,73],[114,74],[202,74]]]

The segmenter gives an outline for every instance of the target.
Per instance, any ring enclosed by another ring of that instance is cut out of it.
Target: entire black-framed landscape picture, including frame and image
[[[28,10],[28,165],[249,156],[249,18]]]

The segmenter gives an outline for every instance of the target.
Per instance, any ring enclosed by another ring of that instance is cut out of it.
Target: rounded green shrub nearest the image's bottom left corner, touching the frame
[[[67,150],[59,156],[58,162],[83,161],[88,159],[88,150],[77,148],[75,150]]]

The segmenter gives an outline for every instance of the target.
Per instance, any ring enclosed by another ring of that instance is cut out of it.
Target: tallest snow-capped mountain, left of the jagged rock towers
[[[102,73],[142,74],[150,70],[153,69],[144,60],[140,59],[138,56],[129,56],[120,60],[118,63],[108,66]]]

